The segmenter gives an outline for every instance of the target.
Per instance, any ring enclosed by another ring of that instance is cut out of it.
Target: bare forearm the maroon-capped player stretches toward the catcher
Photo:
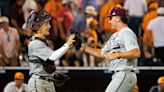
[[[105,59],[105,55],[101,53],[100,49],[95,49],[95,48],[91,48],[91,47],[86,46],[85,52],[90,54],[90,55],[93,55],[95,57],[98,57],[100,59]]]

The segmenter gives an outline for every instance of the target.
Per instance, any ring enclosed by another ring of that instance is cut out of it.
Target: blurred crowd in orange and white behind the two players
[[[31,11],[45,9],[51,20],[48,45],[56,50],[77,30],[83,42],[100,48],[115,32],[107,17],[112,7],[125,8],[128,26],[135,32],[142,55],[138,66],[164,65],[164,0],[0,0],[0,66],[28,66],[26,28]],[[56,66],[106,66],[101,60],[70,48]]]

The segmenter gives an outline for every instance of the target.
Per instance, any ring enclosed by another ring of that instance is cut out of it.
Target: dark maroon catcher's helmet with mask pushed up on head
[[[50,21],[51,18],[52,16],[45,10],[32,11],[27,19],[26,27],[36,32],[43,23]]]

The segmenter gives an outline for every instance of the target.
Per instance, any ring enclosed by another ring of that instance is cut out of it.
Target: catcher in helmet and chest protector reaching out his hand
[[[31,78],[28,81],[28,92],[55,92],[53,83],[54,62],[63,56],[74,42],[72,34],[68,41],[58,50],[53,51],[45,41],[49,35],[51,15],[44,10],[32,12],[27,21],[27,27],[34,32],[28,45]],[[46,66],[47,65],[47,66]],[[50,71],[49,71],[50,69]]]

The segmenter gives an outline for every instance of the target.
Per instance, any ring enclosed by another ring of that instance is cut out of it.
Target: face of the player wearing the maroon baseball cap
[[[111,16],[110,17],[109,24],[111,24],[112,29],[117,28],[117,24],[118,24],[119,21],[120,21],[119,16]]]

